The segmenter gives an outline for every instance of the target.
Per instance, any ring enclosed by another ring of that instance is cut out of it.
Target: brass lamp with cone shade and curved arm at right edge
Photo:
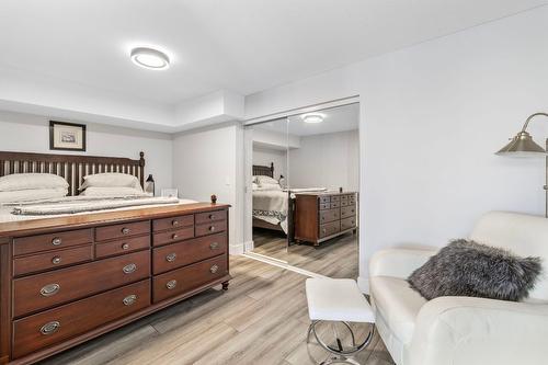
[[[546,158],[546,182],[545,182],[545,217],[548,218],[548,139],[545,141],[545,148],[537,145],[529,133],[526,130],[529,122],[536,116],[546,116],[548,113],[535,113],[527,117],[522,130],[510,140],[510,144],[501,148],[495,155],[509,157],[545,157]]]

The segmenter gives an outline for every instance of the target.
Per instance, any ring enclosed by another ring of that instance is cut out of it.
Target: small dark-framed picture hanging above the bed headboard
[[[85,125],[49,121],[49,149],[85,151]]]

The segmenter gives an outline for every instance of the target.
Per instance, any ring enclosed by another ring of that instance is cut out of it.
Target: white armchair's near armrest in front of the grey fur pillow
[[[547,338],[548,304],[441,297],[419,312],[403,363],[544,364]]]

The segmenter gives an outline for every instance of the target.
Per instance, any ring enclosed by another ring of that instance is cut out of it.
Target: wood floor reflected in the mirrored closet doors
[[[345,233],[313,247],[311,243],[287,248],[283,232],[253,228],[253,252],[329,277],[357,278],[357,235]]]

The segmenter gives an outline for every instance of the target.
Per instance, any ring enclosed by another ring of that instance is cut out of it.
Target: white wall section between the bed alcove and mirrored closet
[[[232,205],[229,220],[232,253],[241,251],[243,244],[240,227],[243,191],[237,192],[243,181],[241,134],[241,127],[230,123],[181,133],[173,138],[173,185],[180,196],[209,202],[215,194],[218,203]]]

